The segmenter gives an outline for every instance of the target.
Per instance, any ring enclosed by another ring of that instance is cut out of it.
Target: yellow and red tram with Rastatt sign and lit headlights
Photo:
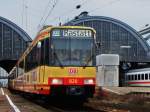
[[[42,29],[9,73],[9,88],[45,96],[92,97],[95,92],[93,28]]]

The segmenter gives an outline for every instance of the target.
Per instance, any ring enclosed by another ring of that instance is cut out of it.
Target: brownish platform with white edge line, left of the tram
[[[42,106],[0,88],[0,112],[51,112]]]

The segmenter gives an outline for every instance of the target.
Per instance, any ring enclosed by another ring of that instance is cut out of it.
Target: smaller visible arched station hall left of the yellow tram
[[[31,41],[23,29],[0,17],[0,67],[9,72]]]

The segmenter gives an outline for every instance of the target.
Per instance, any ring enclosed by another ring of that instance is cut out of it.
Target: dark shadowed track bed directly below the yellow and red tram
[[[27,98],[31,101],[30,98]],[[51,100],[51,99],[50,99]],[[46,108],[50,112],[106,112],[104,110],[97,110],[96,108],[92,108],[86,104],[70,103],[64,100],[52,99],[51,101],[36,99],[32,100],[32,102]],[[87,102],[88,103],[88,102]]]

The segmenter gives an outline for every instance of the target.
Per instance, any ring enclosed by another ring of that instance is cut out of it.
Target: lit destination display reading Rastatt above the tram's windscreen
[[[53,30],[52,36],[55,37],[92,37],[91,30],[82,29],[57,29]]]

